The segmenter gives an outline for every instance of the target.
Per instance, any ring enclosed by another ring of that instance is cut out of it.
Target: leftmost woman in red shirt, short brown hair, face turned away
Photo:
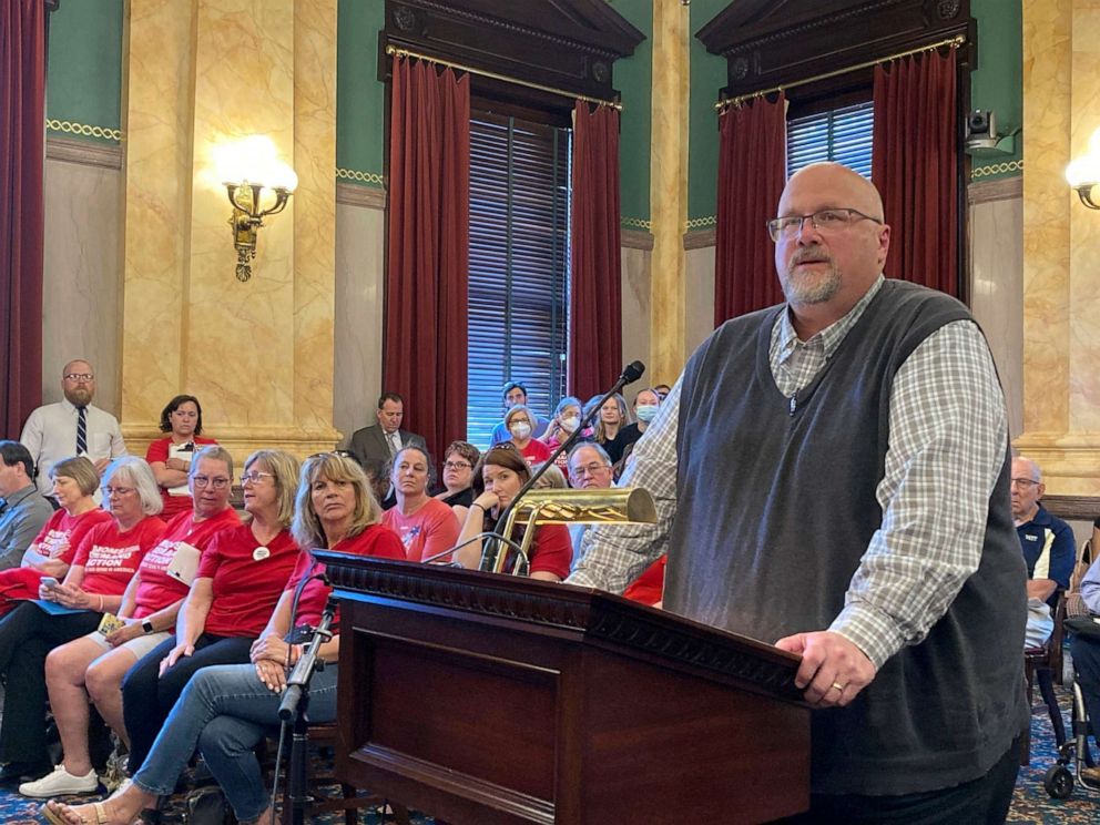
[[[50,468],[50,478],[60,509],[23,552],[20,567],[0,572],[0,617],[14,610],[20,601],[38,599],[43,576],[64,579],[88,531],[111,520],[111,513],[101,510],[92,498],[100,486],[100,475],[90,460],[78,456],[58,461]]]

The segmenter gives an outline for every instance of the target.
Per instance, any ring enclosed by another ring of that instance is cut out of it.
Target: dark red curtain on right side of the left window
[[[607,393],[622,371],[619,112],[573,108],[569,393]]]

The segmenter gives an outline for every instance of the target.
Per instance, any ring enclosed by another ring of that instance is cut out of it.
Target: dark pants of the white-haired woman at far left
[[[45,656],[58,645],[91,633],[102,613],[51,615],[23,602],[0,620],[0,674],[7,686],[0,721],[0,762],[47,764]]]

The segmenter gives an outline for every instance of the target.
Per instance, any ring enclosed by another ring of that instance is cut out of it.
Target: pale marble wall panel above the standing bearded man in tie
[[[118,169],[45,162],[42,399],[61,399],[61,368],[95,368],[95,404],[118,414],[122,261]]]

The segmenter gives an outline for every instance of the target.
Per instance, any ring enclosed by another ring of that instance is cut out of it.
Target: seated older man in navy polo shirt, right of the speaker
[[[1038,648],[1050,638],[1058,588],[1069,587],[1077,561],[1073,529],[1039,503],[1046,490],[1039,465],[1022,456],[1012,459],[1012,519],[1028,567],[1026,648]]]

